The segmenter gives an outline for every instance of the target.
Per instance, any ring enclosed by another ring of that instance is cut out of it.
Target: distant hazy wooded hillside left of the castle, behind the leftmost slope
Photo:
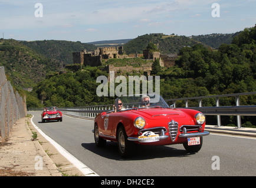
[[[63,61],[66,65],[73,63],[73,52],[80,52],[83,49],[93,51],[97,46],[88,43],[71,42],[71,41],[21,41],[24,45],[28,46],[34,51],[41,53],[47,58],[54,58]]]

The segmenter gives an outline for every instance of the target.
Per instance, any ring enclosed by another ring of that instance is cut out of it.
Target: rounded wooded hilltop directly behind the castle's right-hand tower
[[[124,51],[127,54],[143,53],[143,49],[146,49],[147,43],[149,42],[155,43],[161,53],[168,54],[179,53],[179,50],[183,46],[193,46],[196,43],[201,43],[186,36],[146,34],[127,42],[124,45]]]

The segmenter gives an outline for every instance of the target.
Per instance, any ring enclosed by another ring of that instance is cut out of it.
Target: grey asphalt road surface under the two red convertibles
[[[122,159],[117,144],[96,147],[93,120],[64,116],[63,122],[33,122],[99,176],[256,176],[256,139],[210,134],[198,153],[183,145],[137,146],[131,159]]]

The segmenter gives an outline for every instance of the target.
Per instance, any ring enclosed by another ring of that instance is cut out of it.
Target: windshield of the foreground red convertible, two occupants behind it
[[[116,99],[116,104],[119,107],[122,105],[121,111],[141,108],[169,108],[162,96],[155,94],[122,96]]]

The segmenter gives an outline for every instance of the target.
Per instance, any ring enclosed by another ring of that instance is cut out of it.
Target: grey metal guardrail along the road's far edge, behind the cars
[[[166,102],[173,102],[173,106],[176,107],[177,100],[185,101],[185,108],[195,109],[203,112],[205,115],[216,115],[217,126],[221,126],[221,116],[237,116],[237,127],[241,128],[241,116],[256,116],[256,105],[240,106],[239,97],[243,95],[256,95],[256,92],[247,93],[234,93],[227,95],[211,95],[211,96],[198,96],[192,98],[179,98],[179,99],[167,99]],[[236,106],[220,106],[219,98],[222,97],[235,97]],[[202,106],[202,99],[215,98],[216,106]],[[189,107],[188,100],[198,99],[198,107]],[[99,105],[99,106],[84,106],[74,108],[59,108],[62,112],[68,115],[87,117],[93,119],[98,113],[113,110],[113,105]],[[28,110],[43,110],[42,108],[29,108]]]

